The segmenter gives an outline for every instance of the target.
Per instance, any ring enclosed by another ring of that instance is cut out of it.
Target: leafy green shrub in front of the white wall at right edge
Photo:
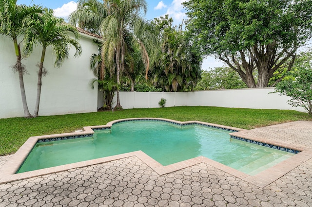
[[[312,116],[312,55],[300,57],[294,69],[275,87],[275,92],[291,97],[288,103],[303,107]]]

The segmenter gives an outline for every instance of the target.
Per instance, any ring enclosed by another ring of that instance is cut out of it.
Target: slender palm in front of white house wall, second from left
[[[74,34],[75,39],[71,38],[68,32]],[[60,67],[63,61],[68,58],[71,45],[76,48],[75,57],[81,54],[81,46],[76,41],[78,35],[79,33],[75,27],[65,23],[64,19],[53,16],[52,9],[45,9],[42,15],[28,22],[23,52],[25,55],[30,55],[34,45],[40,44],[42,47],[38,71],[37,100],[33,117],[38,117],[42,75],[47,74],[43,67],[47,47],[51,46],[56,55],[54,66]]]

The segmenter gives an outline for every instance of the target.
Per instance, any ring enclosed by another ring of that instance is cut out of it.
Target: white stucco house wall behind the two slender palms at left
[[[70,113],[94,112],[98,109],[98,90],[91,89],[89,81],[95,78],[90,70],[90,56],[98,52],[92,38],[81,36],[79,43],[82,54],[74,58],[75,48],[71,48],[69,58],[60,68],[54,68],[55,56],[49,47],[44,67],[49,74],[42,78],[39,116]],[[34,112],[37,95],[36,66],[41,56],[41,48],[22,60],[28,74],[24,75],[27,104],[31,114]],[[16,62],[13,42],[0,35],[0,118],[23,117],[18,73],[11,66]]]

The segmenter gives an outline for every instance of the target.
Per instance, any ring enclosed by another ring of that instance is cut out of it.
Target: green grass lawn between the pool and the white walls
[[[34,119],[0,119],[0,155],[15,153],[32,136],[73,132],[83,126],[135,117],[167,118],[177,121],[205,121],[243,129],[253,129],[289,121],[310,120],[307,113],[292,110],[179,106],[127,109],[84,114],[42,116]]]

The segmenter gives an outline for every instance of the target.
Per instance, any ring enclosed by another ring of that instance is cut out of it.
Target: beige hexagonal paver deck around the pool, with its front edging
[[[304,149],[292,160],[248,176],[204,157],[165,169],[144,153],[0,184],[0,207],[312,206],[312,121],[236,132]],[[301,155],[300,155],[301,154]],[[0,157],[0,171],[13,155]],[[1,180],[7,178],[0,177]]]

